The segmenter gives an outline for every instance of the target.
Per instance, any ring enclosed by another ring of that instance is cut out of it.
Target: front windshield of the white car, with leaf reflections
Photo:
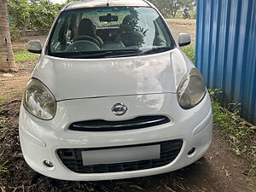
[[[48,47],[52,56],[105,58],[160,53],[175,43],[154,9],[108,7],[62,12]]]

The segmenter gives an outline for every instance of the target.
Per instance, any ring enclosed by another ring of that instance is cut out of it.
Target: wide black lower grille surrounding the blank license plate
[[[148,146],[160,144],[160,159],[159,160],[141,160],[135,162],[124,162],[124,163],[114,163],[114,164],[102,164],[93,166],[84,166],[82,159],[82,151],[89,150],[102,150],[110,148],[63,148],[58,149],[57,154],[59,155],[62,163],[67,166],[73,172],[78,173],[107,173],[107,172],[129,172],[144,169],[151,169],[160,166],[166,166],[176,159],[177,154],[179,154],[183,140],[172,140],[160,143],[148,143],[142,145],[132,145],[132,146],[121,146],[118,148],[130,148],[139,146]],[[117,147],[111,147],[117,148]],[[103,158],[103,157],[102,157]]]

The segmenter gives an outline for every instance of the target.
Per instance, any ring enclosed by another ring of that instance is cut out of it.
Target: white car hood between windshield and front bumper
[[[66,59],[43,55],[32,73],[56,101],[99,96],[176,93],[193,64],[180,49],[108,59]]]

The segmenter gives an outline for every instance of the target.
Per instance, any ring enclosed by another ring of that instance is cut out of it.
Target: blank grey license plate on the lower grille
[[[160,145],[82,151],[83,165],[125,163],[160,159]]]

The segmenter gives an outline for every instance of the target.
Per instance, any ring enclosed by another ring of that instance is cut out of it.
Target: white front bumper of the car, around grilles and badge
[[[122,117],[111,113],[116,102],[127,105]],[[121,120],[142,115],[166,115],[171,122],[144,129],[129,131],[70,131],[68,125],[86,119]],[[21,105],[20,144],[29,166],[48,177],[63,180],[108,180],[172,172],[199,160],[212,139],[212,108],[209,96],[195,108],[183,110],[175,94],[148,96],[113,96],[104,98],[70,100],[57,103],[57,113],[50,121],[37,119]],[[132,172],[77,173],[63,165],[57,154],[60,148],[104,148],[183,140],[177,158],[166,166]],[[193,154],[188,154],[195,148]],[[54,164],[44,166],[44,160]]]

